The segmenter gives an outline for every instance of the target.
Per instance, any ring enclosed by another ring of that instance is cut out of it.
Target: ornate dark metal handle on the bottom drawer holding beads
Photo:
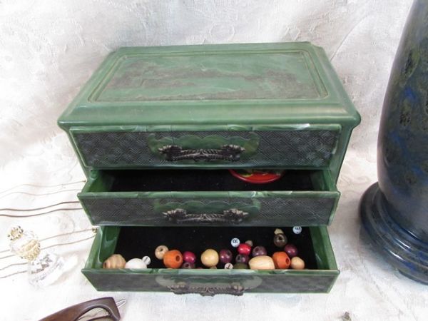
[[[213,297],[218,294],[227,295],[243,295],[244,287],[237,282],[230,283],[228,286],[190,286],[185,282],[178,282],[175,285],[170,285],[168,288],[176,295],[199,293],[203,297]]]

